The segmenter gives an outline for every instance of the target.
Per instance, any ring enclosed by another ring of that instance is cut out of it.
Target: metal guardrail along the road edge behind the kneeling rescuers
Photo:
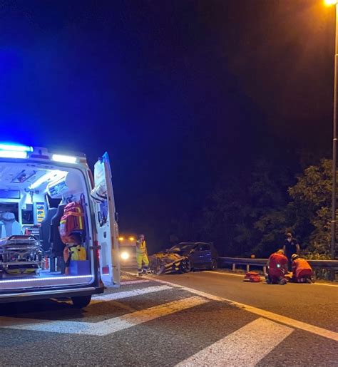
[[[307,260],[313,269],[332,269],[338,270],[338,260]],[[220,267],[225,264],[232,265],[232,271],[235,271],[236,265],[245,265],[247,272],[250,272],[250,266],[262,267],[263,272],[267,271],[267,259],[249,259],[245,257],[219,257]]]

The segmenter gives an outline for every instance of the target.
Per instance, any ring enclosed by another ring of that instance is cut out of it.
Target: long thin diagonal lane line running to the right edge
[[[175,287],[183,289],[185,291],[189,291],[190,293],[193,293],[193,294],[198,294],[199,296],[203,296],[206,299],[211,299],[213,301],[226,301],[226,302],[229,302],[230,304],[232,304],[233,306],[240,307],[240,309],[245,309],[245,311],[249,311],[252,314],[263,316],[266,319],[270,319],[272,321],[277,321],[277,322],[280,322],[281,324],[292,326],[293,328],[296,328],[296,329],[308,331],[309,333],[316,334],[316,335],[319,335],[319,336],[323,336],[324,338],[329,338],[329,339],[332,339],[334,341],[338,341],[338,333],[335,332],[335,331],[323,329],[323,328],[320,328],[319,326],[314,326],[312,324],[307,324],[307,323],[302,322],[302,321],[291,319],[290,317],[287,317],[287,316],[282,316],[280,314],[275,314],[275,313],[270,312],[270,311],[265,311],[263,309],[258,309],[257,307],[249,306],[248,304],[241,304],[240,302],[232,301],[232,299],[226,299],[226,298],[223,298],[223,297],[214,296],[213,294],[208,294],[208,293],[205,293],[203,291],[198,291],[197,289],[189,288],[188,286],[180,286],[180,285],[175,284],[175,283],[170,283],[170,281],[164,281],[164,280],[160,280],[160,279],[153,279],[153,280],[159,281],[160,283],[163,283],[163,284],[170,284],[170,286],[173,286],[173,287],[175,286]]]

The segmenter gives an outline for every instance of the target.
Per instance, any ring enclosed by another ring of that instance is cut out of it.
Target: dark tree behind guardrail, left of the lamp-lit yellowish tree
[[[267,256],[282,245],[292,175],[277,159],[256,160],[240,177],[223,180],[205,207],[205,233],[227,255]]]

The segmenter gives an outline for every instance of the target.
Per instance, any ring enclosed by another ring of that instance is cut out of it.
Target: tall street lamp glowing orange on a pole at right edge
[[[332,220],[331,220],[331,258],[336,253],[336,172],[337,172],[337,66],[338,66],[338,0],[324,0],[327,6],[336,6],[336,31],[334,42],[334,92],[333,92],[333,140],[332,140]]]

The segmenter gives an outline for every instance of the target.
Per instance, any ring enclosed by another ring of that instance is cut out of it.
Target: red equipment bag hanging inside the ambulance
[[[71,234],[73,232],[82,232],[83,226],[83,208],[78,202],[70,202],[66,205],[63,211],[63,216],[60,220],[60,232],[61,241],[64,244],[71,242]]]

